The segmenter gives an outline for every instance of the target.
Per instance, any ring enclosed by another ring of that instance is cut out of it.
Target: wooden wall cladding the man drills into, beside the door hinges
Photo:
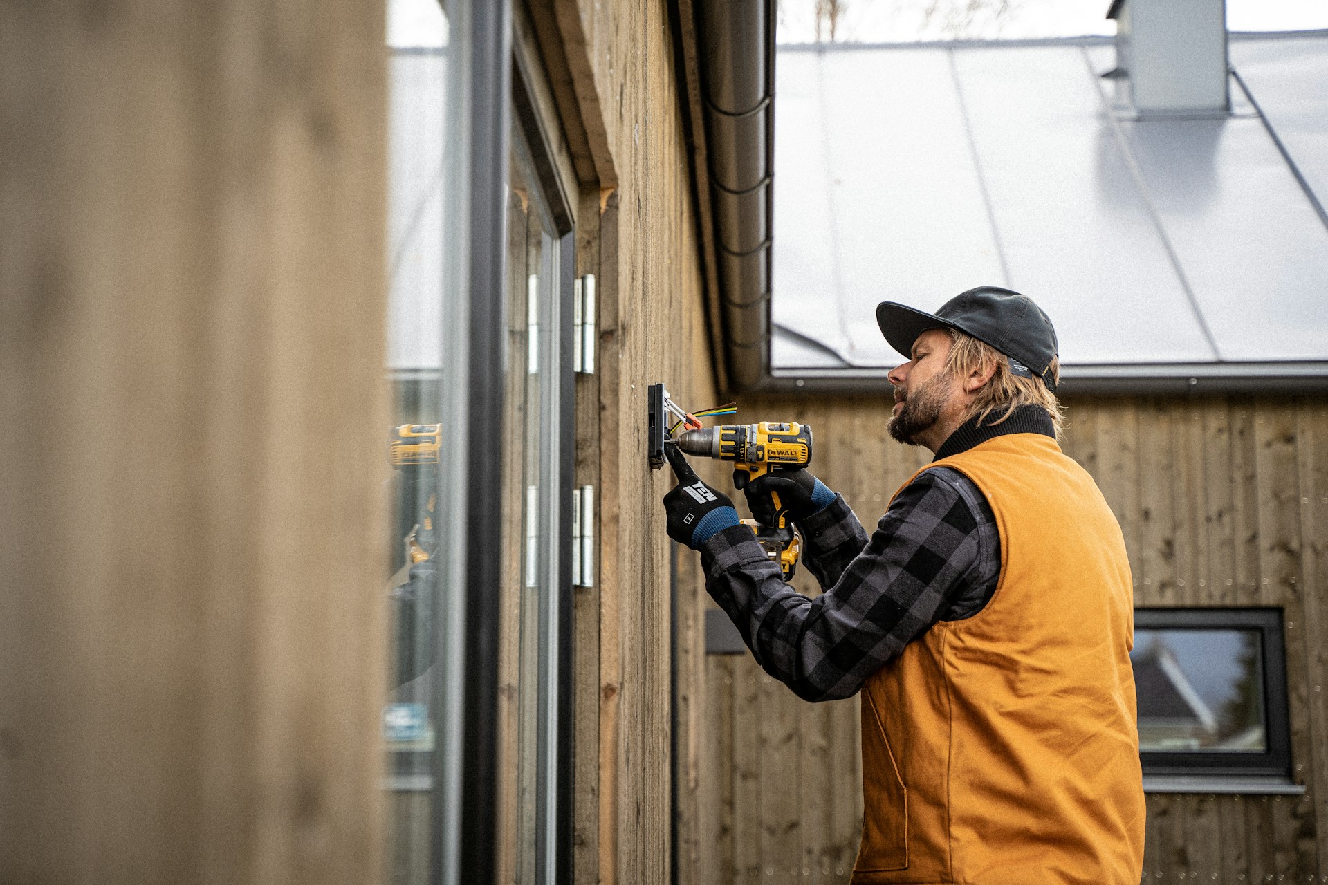
[[[598,281],[598,369],[576,379],[576,483],[598,487],[599,556],[595,586],[574,598],[574,880],[663,884],[675,779],[693,784],[683,804],[696,793],[696,766],[673,763],[697,752],[704,593],[685,569],[671,580],[661,499],[673,475],[648,468],[645,391],[664,383],[685,406],[714,403],[669,4],[527,5],[582,179],[576,272]],[[683,841],[695,853],[695,832]]]

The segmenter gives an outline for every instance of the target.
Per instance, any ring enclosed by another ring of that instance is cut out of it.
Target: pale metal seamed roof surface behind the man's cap
[[[1048,312],[1069,378],[1324,372],[1328,33],[1230,61],[1230,117],[1139,121],[1101,38],[781,48],[772,369],[895,365],[878,301],[995,284]]]

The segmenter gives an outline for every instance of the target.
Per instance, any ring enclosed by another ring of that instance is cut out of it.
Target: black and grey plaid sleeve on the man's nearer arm
[[[842,515],[829,521],[846,525]],[[850,544],[849,535],[837,543],[827,533],[827,573],[833,551]],[[855,694],[904,645],[943,620],[952,600],[971,596],[975,585],[995,588],[999,544],[977,487],[938,468],[899,492],[866,545],[815,598],[780,579],[745,525],[712,537],[701,563],[706,589],[757,663],[803,699],[833,701]]]

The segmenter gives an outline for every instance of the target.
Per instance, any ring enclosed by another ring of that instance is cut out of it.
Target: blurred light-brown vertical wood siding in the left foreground
[[[0,5],[0,881],[381,874],[382,5]]]

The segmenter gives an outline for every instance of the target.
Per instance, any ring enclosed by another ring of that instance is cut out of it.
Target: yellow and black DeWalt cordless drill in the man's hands
[[[811,463],[811,427],[797,422],[718,425],[687,430],[673,437],[673,442],[688,455],[734,462],[733,484],[738,488],[772,470],[797,470]],[[774,525],[761,525],[754,519],[742,521],[752,527],[766,556],[780,564],[784,580],[789,581],[798,567],[802,540],[780,504],[778,494],[770,492],[770,498],[774,500]]]

